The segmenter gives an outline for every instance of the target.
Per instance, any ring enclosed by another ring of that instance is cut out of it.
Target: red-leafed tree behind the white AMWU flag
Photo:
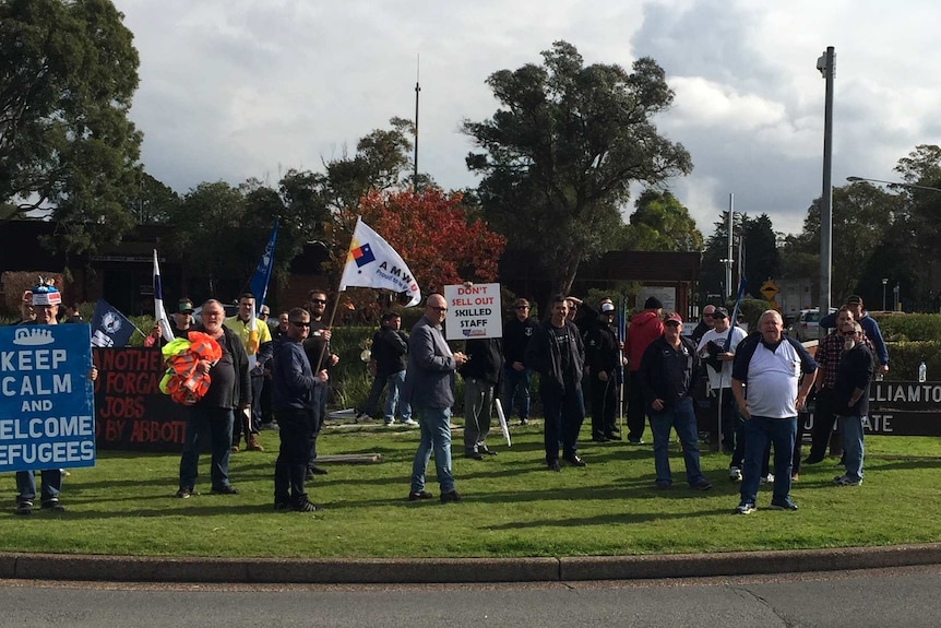
[[[358,213],[402,256],[424,294],[467,281],[493,282],[507,239],[468,216],[462,199],[461,192],[434,187],[372,191],[356,211],[344,210],[337,222],[352,233]],[[348,237],[338,239],[348,242]]]

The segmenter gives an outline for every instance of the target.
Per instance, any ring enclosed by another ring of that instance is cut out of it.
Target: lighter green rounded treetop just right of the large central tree
[[[644,190],[634,203],[624,249],[700,251],[703,236],[682,203],[668,191]]]

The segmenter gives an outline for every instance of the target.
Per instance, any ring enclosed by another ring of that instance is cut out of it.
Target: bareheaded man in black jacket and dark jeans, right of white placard
[[[544,442],[549,471],[559,466],[559,441],[562,458],[573,466],[585,466],[577,454],[579,430],[585,420],[582,399],[582,370],[585,346],[579,328],[570,320],[565,297],[552,298],[549,320],[539,325],[526,346],[525,365],[539,374],[539,396],[546,417]]]

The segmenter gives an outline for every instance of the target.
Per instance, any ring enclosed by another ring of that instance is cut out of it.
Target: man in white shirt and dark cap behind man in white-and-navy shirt
[[[743,341],[747,334],[740,327],[731,325],[728,310],[723,307],[713,308],[712,321],[713,329],[703,334],[696,353],[705,362],[713,396],[722,400],[717,414],[722,424],[722,445],[727,453],[732,454],[728,477],[732,482],[739,482],[745,457],[745,422],[736,412],[735,396],[731,393],[731,363],[738,343]]]

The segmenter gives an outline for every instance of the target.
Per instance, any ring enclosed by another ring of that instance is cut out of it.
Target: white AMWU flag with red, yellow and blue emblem
[[[347,286],[385,288],[396,293],[408,293],[406,307],[421,301],[418,282],[395,249],[373,232],[361,218],[356,220],[356,229],[349,242],[346,266],[340,280],[340,292]]]

